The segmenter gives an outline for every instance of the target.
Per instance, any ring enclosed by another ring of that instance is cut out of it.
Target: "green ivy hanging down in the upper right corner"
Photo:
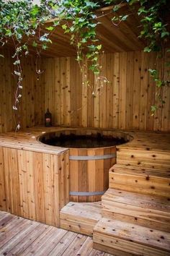
[[[151,106],[151,111],[154,112],[158,109],[158,106],[162,107],[165,103],[161,96],[161,89],[166,85],[170,84],[170,63],[166,62],[166,53],[170,51],[168,48],[170,43],[170,28],[169,28],[169,16],[170,16],[170,2],[169,0],[105,0],[107,4],[115,4],[113,7],[113,12],[117,12],[122,3],[128,2],[131,7],[132,12],[136,10],[138,16],[140,17],[141,30],[139,38],[144,38],[146,40],[147,46],[144,48],[145,52],[150,53],[151,51],[157,52],[157,62],[162,62],[163,65],[161,70],[158,69],[148,69],[151,77],[156,82],[158,92],[156,93],[157,103]],[[112,18],[113,22],[121,22],[126,20],[128,14],[124,16],[116,15]],[[166,74],[165,74],[166,68]]]

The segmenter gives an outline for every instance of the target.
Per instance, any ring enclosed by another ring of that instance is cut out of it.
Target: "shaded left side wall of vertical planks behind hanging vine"
[[[2,50],[4,58],[0,58],[0,132],[9,132],[18,124],[19,111],[14,111],[14,92],[17,81],[14,77],[12,51]],[[35,57],[28,56],[22,59],[23,90],[20,105],[21,126],[32,127],[42,124],[45,111],[45,95],[43,75],[35,72]]]

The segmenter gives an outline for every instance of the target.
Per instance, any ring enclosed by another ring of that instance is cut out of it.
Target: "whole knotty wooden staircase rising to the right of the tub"
[[[94,248],[117,256],[170,255],[170,154],[119,148],[94,226]]]

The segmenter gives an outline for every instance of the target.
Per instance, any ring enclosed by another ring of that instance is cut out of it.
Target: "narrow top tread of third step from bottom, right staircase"
[[[170,171],[169,170],[159,170],[156,168],[146,168],[140,166],[129,166],[115,164],[109,169],[110,172],[115,172],[119,174],[129,174],[129,175],[140,175],[140,176],[156,176],[161,179],[169,179],[170,181]]]

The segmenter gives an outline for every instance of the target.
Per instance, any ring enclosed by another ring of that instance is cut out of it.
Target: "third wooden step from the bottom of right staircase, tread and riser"
[[[109,188],[169,198],[170,172],[115,164],[109,170]]]

